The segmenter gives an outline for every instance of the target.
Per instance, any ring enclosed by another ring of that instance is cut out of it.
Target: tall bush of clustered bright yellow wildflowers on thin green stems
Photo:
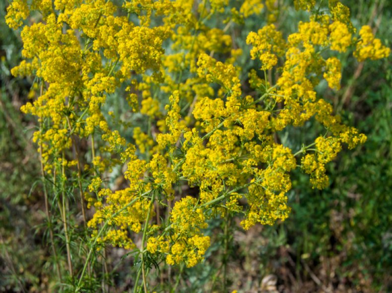
[[[37,118],[57,291],[115,286],[112,245],[133,261],[125,290],[175,292],[171,267],[181,276],[204,260],[215,220],[224,219],[219,244],[227,252],[233,218],[245,230],[284,221],[294,170],[325,189],[328,163],[366,141],[320,85],[339,90],[346,54],[376,60],[390,49],[333,0],[294,1],[307,20],[280,30],[286,5],[10,3],[5,21],[22,28],[25,58],[11,72],[33,79],[21,110]],[[248,33],[248,19],[260,29]],[[320,132],[311,141],[284,144],[284,131],[314,124]],[[227,292],[225,253],[221,262]]]

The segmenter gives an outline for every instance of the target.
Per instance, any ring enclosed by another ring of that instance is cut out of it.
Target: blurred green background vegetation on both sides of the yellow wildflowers
[[[43,195],[39,186],[36,146],[30,136],[33,123],[19,107],[28,99],[31,81],[10,76],[20,60],[21,43],[4,23],[6,1],[0,1],[0,292],[47,292],[55,274],[50,259]],[[352,21],[370,24],[376,36],[391,46],[392,2],[343,1]],[[298,21],[287,10],[289,26]],[[250,30],[261,24],[255,17]],[[290,28],[288,27],[290,31]],[[247,32],[236,32],[247,34]],[[388,43],[389,42],[389,43]],[[243,44],[245,47],[246,45]],[[245,50],[246,51],[246,50]],[[244,58],[245,60],[245,58]],[[227,247],[227,279],[239,292],[392,292],[392,57],[358,63],[342,62],[342,87],[326,93],[345,123],[365,133],[368,141],[355,152],[342,151],[329,165],[330,186],[313,190],[306,175],[295,174],[289,200],[290,217],[272,227],[260,225],[244,232],[233,229]],[[120,97],[110,96],[114,100]],[[116,115],[122,115],[121,107]],[[355,114],[352,114],[355,113]],[[315,137],[317,130],[286,130],[287,145]],[[211,223],[209,234],[220,229]],[[177,272],[179,292],[221,292],[219,241],[212,240],[206,262]],[[109,256],[115,258],[115,256]],[[120,264],[127,271],[127,263]],[[216,276],[212,278],[211,276]],[[111,276],[119,292],[127,284]],[[214,280],[216,282],[214,282]]]

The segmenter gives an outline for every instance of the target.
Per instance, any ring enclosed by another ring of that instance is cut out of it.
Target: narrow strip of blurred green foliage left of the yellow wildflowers
[[[19,111],[30,83],[10,76],[22,46],[5,25],[5,4],[0,1],[0,292],[37,292],[45,245],[34,233],[42,222],[40,200],[29,194],[39,165],[29,121]]]

